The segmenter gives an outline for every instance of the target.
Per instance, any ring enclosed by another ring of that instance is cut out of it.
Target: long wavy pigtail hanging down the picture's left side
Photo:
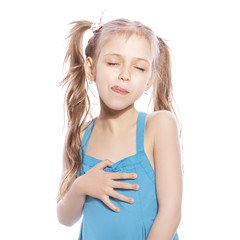
[[[58,201],[68,191],[75,180],[82,162],[79,161],[79,148],[83,153],[80,132],[82,124],[85,122],[90,109],[90,100],[86,90],[86,75],[84,71],[83,57],[83,35],[91,28],[89,21],[72,22],[69,38],[68,50],[64,63],[69,65],[66,77],[59,85],[68,84],[64,108],[67,108],[68,130],[65,139],[64,155],[66,160],[66,172],[62,177],[58,193]],[[82,154],[83,156],[83,154]]]

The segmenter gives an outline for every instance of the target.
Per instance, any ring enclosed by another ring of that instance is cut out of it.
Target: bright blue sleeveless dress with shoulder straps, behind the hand
[[[127,197],[134,198],[134,203],[127,203],[113,197],[110,201],[120,209],[115,212],[100,199],[86,196],[83,206],[83,218],[78,240],[146,240],[158,212],[155,186],[155,172],[144,151],[145,112],[138,113],[136,131],[136,154],[125,157],[104,168],[106,172],[137,173],[136,179],[115,179],[131,184],[138,184],[139,190],[114,189]],[[82,145],[84,162],[78,176],[85,174],[102,160],[86,155],[91,137],[91,129],[96,118],[86,128]],[[80,151],[80,156],[81,151]],[[177,232],[173,240],[179,240]]]

